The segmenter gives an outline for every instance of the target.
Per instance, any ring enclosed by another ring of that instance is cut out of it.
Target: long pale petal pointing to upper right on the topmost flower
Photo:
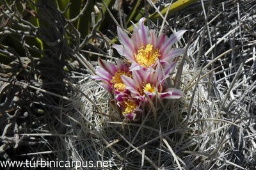
[[[163,43],[163,46],[160,48],[163,54],[166,53],[166,51],[170,50],[174,43],[179,42],[180,38],[182,38],[182,36],[184,35],[184,33],[186,33],[186,31],[187,30],[180,30],[180,31],[177,31],[176,33],[173,33],[170,36],[170,38],[168,38],[166,42]]]

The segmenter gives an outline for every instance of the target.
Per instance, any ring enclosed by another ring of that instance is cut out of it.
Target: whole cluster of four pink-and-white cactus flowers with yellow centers
[[[102,81],[102,86],[115,96],[115,102],[125,119],[136,120],[143,112],[141,105],[148,104],[148,98],[177,99],[184,93],[176,88],[166,88],[165,80],[176,66],[173,60],[184,49],[172,48],[186,31],[181,30],[170,37],[156,35],[154,30],[144,26],[145,18],[134,24],[131,38],[117,27],[121,45],[113,45],[125,61],[116,61],[116,65],[99,59],[99,66],[93,79]]]

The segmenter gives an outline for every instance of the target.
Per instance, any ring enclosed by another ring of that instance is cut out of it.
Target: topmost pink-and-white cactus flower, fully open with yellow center
[[[141,18],[138,26],[134,24],[131,38],[117,27],[118,40],[122,45],[113,45],[113,48],[132,64],[131,70],[139,70],[138,66],[153,67],[157,60],[162,64],[170,63],[184,53],[184,49],[172,48],[172,45],[182,38],[186,30],[177,31],[170,38],[164,34],[157,36],[154,30],[144,26],[144,20],[145,18]]]

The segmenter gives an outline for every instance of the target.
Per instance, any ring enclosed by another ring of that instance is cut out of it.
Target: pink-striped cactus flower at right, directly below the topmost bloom
[[[169,73],[172,72],[174,67],[175,63],[163,68],[158,62],[156,70],[152,68],[148,68],[147,70],[140,68],[140,70],[132,71],[132,77],[128,77],[126,75],[121,75],[121,77],[133,98],[145,101],[145,95],[152,99],[157,94],[160,99],[177,99],[183,97],[184,93],[179,89],[166,88],[164,86],[164,80],[169,76]]]

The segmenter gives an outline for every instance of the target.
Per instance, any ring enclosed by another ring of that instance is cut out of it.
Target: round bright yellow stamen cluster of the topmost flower
[[[159,49],[154,50],[152,44],[147,44],[146,47],[140,47],[137,54],[134,54],[136,62],[144,67],[149,67],[156,63],[160,56]]]

